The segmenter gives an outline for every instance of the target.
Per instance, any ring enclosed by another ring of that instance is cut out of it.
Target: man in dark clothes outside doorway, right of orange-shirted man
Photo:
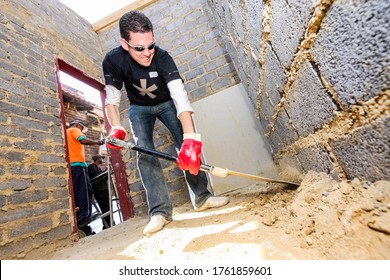
[[[88,174],[89,178],[91,179],[92,183],[92,191],[93,195],[95,196],[95,199],[97,203],[99,204],[100,210],[102,214],[107,213],[110,211],[110,196],[108,193],[108,173],[107,169],[102,168],[103,159],[105,157],[101,155],[95,155],[92,157],[93,163],[88,165]],[[106,174],[103,174],[103,173]],[[103,174],[103,175],[101,175]],[[101,175],[101,176],[99,176]],[[99,176],[99,177],[97,177]],[[94,179],[95,178],[95,179]],[[110,215],[105,216],[103,223],[103,229],[106,229],[111,226],[111,217]]]

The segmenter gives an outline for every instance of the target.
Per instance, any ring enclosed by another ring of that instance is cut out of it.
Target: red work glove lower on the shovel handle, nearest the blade
[[[200,168],[200,152],[202,141],[200,134],[184,133],[184,141],[181,145],[176,163],[181,170],[188,170],[193,175],[198,175]]]

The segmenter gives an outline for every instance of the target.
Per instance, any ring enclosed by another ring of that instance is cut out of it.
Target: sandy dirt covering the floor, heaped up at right
[[[388,260],[390,182],[336,182],[309,172],[296,190],[258,183],[227,194],[219,209],[174,208],[150,237],[135,217],[43,259],[57,260]],[[41,259],[42,259],[41,258]]]

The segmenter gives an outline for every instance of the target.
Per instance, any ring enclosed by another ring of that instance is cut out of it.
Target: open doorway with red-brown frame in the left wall
[[[105,100],[104,85],[88,77],[84,72],[74,68],[61,59],[56,60],[56,77],[58,96],[60,100],[60,117],[64,127],[64,135],[70,121],[79,119],[89,127],[87,138],[92,140],[103,139],[110,131],[110,125],[102,104]],[[76,209],[74,203],[74,192],[72,184],[72,175],[70,172],[68,143],[65,137],[65,155],[67,167],[69,170],[69,194],[72,198],[72,210],[74,221],[76,221]],[[116,195],[116,206],[113,203],[113,209],[116,209],[117,220],[127,220],[134,216],[133,205],[130,198],[130,188],[127,182],[125,165],[122,161],[120,151],[107,150],[105,145],[102,146],[85,146],[86,162],[92,163],[92,156],[99,154],[106,156],[107,166],[111,167],[110,176],[112,175],[114,183],[114,194]],[[110,170],[110,169],[109,169]],[[119,215],[119,216],[118,216]],[[115,217],[114,217],[115,220]],[[102,220],[101,220],[102,221]],[[73,231],[76,233],[77,223]]]

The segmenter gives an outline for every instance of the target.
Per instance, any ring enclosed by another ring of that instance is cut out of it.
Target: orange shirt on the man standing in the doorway
[[[71,166],[72,163],[86,164],[84,145],[80,143],[80,140],[86,138],[85,134],[77,127],[69,127],[66,130],[66,137],[68,139],[69,161]]]

